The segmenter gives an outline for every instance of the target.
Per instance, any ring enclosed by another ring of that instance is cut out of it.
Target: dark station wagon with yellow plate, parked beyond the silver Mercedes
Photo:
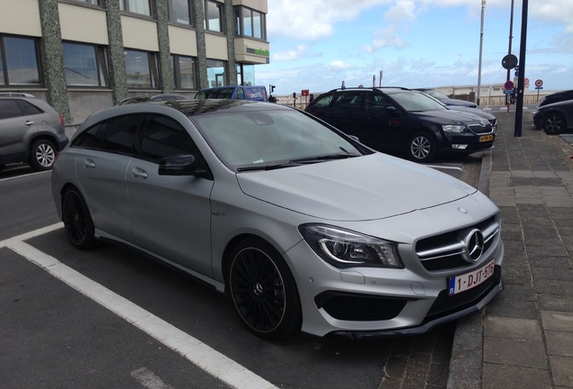
[[[372,149],[405,152],[417,162],[443,153],[491,149],[496,138],[484,118],[450,110],[423,92],[400,87],[333,89],[305,111]]]

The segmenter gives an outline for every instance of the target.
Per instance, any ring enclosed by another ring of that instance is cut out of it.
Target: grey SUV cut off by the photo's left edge
[[[0,93],[0,169],[27,162],[48,170],[68,144],[64,120],[50,104],[29,94]]]

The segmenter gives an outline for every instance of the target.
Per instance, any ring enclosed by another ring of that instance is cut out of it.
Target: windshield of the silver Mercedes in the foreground
[[[240,170],[296,166],[362,155],[342,138],[296,110],[243,111],[191,117],[215,154]]]

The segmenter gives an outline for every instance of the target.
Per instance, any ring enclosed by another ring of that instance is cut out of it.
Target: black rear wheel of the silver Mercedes
[[[66,190],[62,201],[62,221],[68,239],[77,249],[90,249],[96,243],[95,228],[86,202],[75,187]]]

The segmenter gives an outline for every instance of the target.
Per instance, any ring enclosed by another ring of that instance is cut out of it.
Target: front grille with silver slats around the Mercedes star
[[[499,214],[461,230],[419,240],[416,243],[416,255],[423,267],[430,272],[468,267],[471,263],[466,260],[464,239],[469,231],[476,229],[484,236],[484,250],[481,257],[485,258],[500,239]]]

